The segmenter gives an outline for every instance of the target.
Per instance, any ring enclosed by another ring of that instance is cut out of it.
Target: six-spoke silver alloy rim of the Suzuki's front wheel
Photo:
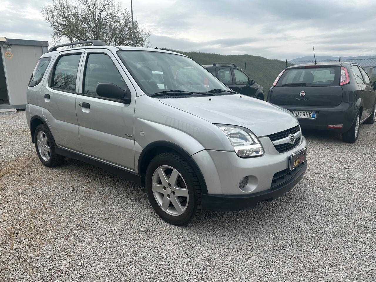
[[[170,215],[181,215],[188,206],[188,189],[181,174],[169,165],[158,167],[152,177],[152,191],[158,205]]]

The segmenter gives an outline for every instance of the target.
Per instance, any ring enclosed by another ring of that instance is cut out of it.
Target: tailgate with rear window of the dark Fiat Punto
[[[306,66],[287,69],[272,88],[276,105],[337,106],[342,102],[339,66]]]

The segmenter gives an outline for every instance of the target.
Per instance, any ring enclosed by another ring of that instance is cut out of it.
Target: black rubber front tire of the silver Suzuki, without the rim
[[[161,166],[170,166],[179,172],[185,180],[188,190],[188,204],[181,215],[170,215],[157,203],[152,190],[154,172]],[[182,226],[196,220],[201,214],[201,186],[191,165],[177,153],[162,153],[152,159],[146,170],[146,191],[150,204],[156,213],[168,223]]]

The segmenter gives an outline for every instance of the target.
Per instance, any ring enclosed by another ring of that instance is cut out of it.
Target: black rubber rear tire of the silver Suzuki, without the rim
[[[43,159],[38,149],[39,132],[44,133],[44,135],[47,137],[47,144],[50,147],[50,158],[47,161]],[[41,160],[42,164],[44,164],[46,167],[57,167],[58,165],[61,165],[64,162],[65,157],[55,153],[55,143],[53,141],[52,134],[45,124],[39,124],[36,127],[35,132],[34,132],[34,144],[35,144],[35,150],[39,159]]]

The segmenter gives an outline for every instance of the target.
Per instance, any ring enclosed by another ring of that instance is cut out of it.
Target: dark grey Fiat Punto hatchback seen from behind
[[[361,123],[376,118],[376,82],[352,62],[288,67],[267,100],[291,111],[303,129],[336,130],[349,143],[358,139]]]

